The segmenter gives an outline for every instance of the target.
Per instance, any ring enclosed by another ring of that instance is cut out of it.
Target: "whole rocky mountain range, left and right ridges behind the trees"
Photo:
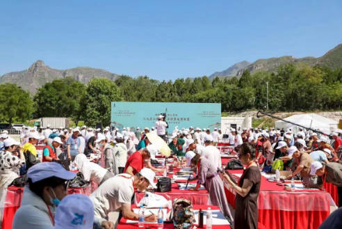
[[[210,75],[209,79],[214,77],[240,77],[244,70],[250,70],[253,74],[258,71],[275,71],[279,65],[286,63],[293,63],[294,65],[321,65],[332,69],[342,67],[342,44],[337,45],[334,49],[329,50],[323,56],[294,58],[293,56],[282,56],[275,58],[259,59],[254,63],[242,61],[232,65],[222,72],[215,72]],[[56,70],[45,65],[43,61],[36,61],[27,70],[19,72],[10,72],[3,74],[0,77],[0,84],[13,83],[21,86],[24,90],[28,90],[34,94],[38,88],[51,82],[54,79],[63,79],[65,77],[72,77],[83,84],[95,77],[105,77],[107,79],[115,80],[119,75],[101,70],[97,68],[78,67],[67,70]]]

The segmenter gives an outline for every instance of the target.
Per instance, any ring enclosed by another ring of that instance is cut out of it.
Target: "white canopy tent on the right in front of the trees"
[[[323,132],[325,134],[330,134],[331,132],[336,131],[339,126],[338,121],[330,118],[325,118],[323,116],[318,116],[316,113],[298,114],[290,116],[288,118],[284,118],[284,120],[295,123],[297,125],[302,125],[303,127],[316,130],[319,129],[320,132]],[[299,127],[291,123],[286,123],[282,120],[278,120],[275,122],[275,127],[285,130],[291,128],[294,133],[299,132]]]

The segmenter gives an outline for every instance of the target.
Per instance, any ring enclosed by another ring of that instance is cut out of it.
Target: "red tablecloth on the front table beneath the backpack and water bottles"
[[[193,205],[194,210],[199,210],[199,209],[205,210],[208,207],[211,207],[211,210],[219,210],[219,208],[216,206]],[[152,229],[157,228],[156,224],[147,224],[145,226],[148,226],[148,228],[152,228]],[[138,228],[139,228],[138,223],[126,223],[126,219],[123,219],[123,218],[120,220],[120,223],[117,225],[117,229],[138,229]],[[164,228],[173,229],[174,226],[172,223],[164,223]],[[213,229],[229,229],[229,228],[230,228],[229,225],[213,225]]]

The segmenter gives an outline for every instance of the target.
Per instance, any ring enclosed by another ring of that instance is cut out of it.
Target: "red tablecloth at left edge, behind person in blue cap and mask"
[[[68,189],[68,194],[88,194],[89,189]],[[3,207],[3,221],[1,229],[11,229],[15,212],[22,205],[22,195],[24,188],[21,187],[8,187],[5,205]]]

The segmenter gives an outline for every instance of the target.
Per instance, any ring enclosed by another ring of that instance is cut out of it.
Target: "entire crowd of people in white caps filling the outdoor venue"
[[[187,166],[193,168],[196,175],[192,180],[197,180],[193,191],[204,185],[211,203],[220,207],[236,228],[257,228],[260,170],[266,171],[270,167],[291,171],[288,179],[301,177],[307,186],[317,185],[309,179],[311,176],[327,175],[327,182],[338,186],[339,205],[342,206],[342,180],[336,180],[335,175],[341,170],[342,139],[336,132],[330,139],[302,128],[296,134],[292,129],[275,128],[230,128],[223,134],[216,127],[175,127],[168,135],[167,127],[163,116],[158,117],[155,127],[145,127],[142,131],[140,127],[24,127],[21,143],[10,138],[6,131],[2,132],[1,203],[13,180],[22,175],[28,179],[13,228],[72,228],[65,224],[67,222],[114,228],[115,224],[108,221],[108,214],[115,211],[120,212],[120,217],[137,220],[138,214],[131,210],[135,189],[155,188],[155,174],[163,172],[163,168],[153,166],[159,149],[149,141],[148,134],[156,134],[168,143],[174,161],[186,161]],[[221,142],[234,148],[246,167],[238,183],[222,168],[221,152],[217,147]],[[37,145],[44,145],[42,155],[39,155]],[[91,155],[99,157],[90,160]],[[89,198],[65,197],[69,181],[76,175],[68,171],[73,169],[83,173],[86,181],[97,185]],[[230,185],[236,192],[234,217],[225,197],[225,185]],[[73,205],[74,200],[80,204]],[[76,215],[75,212],[81,213]],[[64,220],[69,218],[72,220]],[[152,214],[145,220],[155,221],[156,216]]]

